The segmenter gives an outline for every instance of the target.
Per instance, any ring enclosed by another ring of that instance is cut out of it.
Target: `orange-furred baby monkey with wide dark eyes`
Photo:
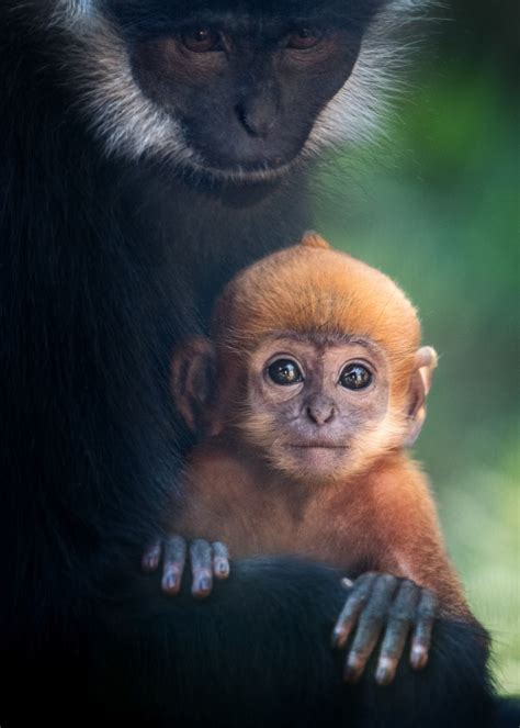
[[[382,635],[386,684],[409,634],[420,669],[437,614],[473,619],[405,451],[436,365],[397,285],[315,234],[238,275],[211,338],[173,357],[173,394],[200,441],[172,527],[234,557],[296,553],[358,576],[334,632],[337,647],[352,637],[352,682]]]

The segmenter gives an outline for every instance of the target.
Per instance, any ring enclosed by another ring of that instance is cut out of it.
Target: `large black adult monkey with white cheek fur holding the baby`
[[[137,572],[179,461],[171,345],[309,226],[297,169],[370,116],[402,18],[279,5],[0,5],[2,726],[488,725],[479,634],[346,688],[336,573],[237,563],[195,605]]]

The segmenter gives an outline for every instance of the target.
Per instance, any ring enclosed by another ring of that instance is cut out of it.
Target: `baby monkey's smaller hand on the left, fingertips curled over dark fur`
[[[146,549],[142,567],[151,573],[157,571],[162,559],[161,589],[166,594],[176,595],[181,589],[188,553],[193,580],[192,594],[196,598],[205,598],[212,592],[213,578],[222,580],[229,575],[229,555],[221,541],[210,544],[196,538],[189,542],[177,535],[158,539]]]

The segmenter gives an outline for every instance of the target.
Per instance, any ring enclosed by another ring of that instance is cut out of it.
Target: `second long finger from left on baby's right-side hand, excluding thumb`
[[[355,683],[366,667],[389,613],[398,580],[388,574],[376,576],[370,600],[359,619],[355,637],[344,665],[344,680]]]

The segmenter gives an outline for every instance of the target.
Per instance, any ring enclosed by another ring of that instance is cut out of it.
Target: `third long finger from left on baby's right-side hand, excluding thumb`
[[[380,685],[388,685],[405,650],[406,639],[416,615],[419,589],[410,581],[402,582],[394,604],[391,607],[383,645],[381,647],[375,680]]]

